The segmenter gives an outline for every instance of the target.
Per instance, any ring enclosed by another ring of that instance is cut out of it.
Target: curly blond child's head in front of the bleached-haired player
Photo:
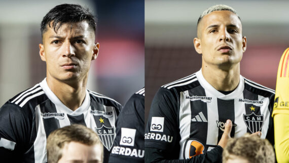
[[[275,163],[273,146],[267,139],[245,135],[232,138],[223,151],[223,163]]]

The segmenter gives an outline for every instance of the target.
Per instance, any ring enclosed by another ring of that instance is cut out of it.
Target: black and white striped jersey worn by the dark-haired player
[[[1,160],[47,162],[48,135],[57,128],[78,123],[98,134],[104,146],[104,162],[107,162],[121,107],[109,97],[86,90],[83,104],[72,111],[57,98],[44,79],[0,108]]]

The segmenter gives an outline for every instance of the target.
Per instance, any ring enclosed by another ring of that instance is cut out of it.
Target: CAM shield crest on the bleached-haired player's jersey
[[[264,115],[256,115],[254,112],[245,115],[243,114],[243,118],[245,124],[251,133],[256,133],[261,131],[263,122],[264,122]]]

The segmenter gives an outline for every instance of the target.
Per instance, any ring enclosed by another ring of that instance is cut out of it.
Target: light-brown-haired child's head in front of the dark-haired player
[[[46,148],[48,163],[103,160],[103,145],[97,134],[80,124],[56,129],[47,138]]]

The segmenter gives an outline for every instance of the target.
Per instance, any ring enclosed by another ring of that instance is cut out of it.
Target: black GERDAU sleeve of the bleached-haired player
[[[173,91],[160,88],[156,93],[144,134],[146,148],[172,149],[169,157],[178,157],[179,129],[177,121],[177,95]]]

